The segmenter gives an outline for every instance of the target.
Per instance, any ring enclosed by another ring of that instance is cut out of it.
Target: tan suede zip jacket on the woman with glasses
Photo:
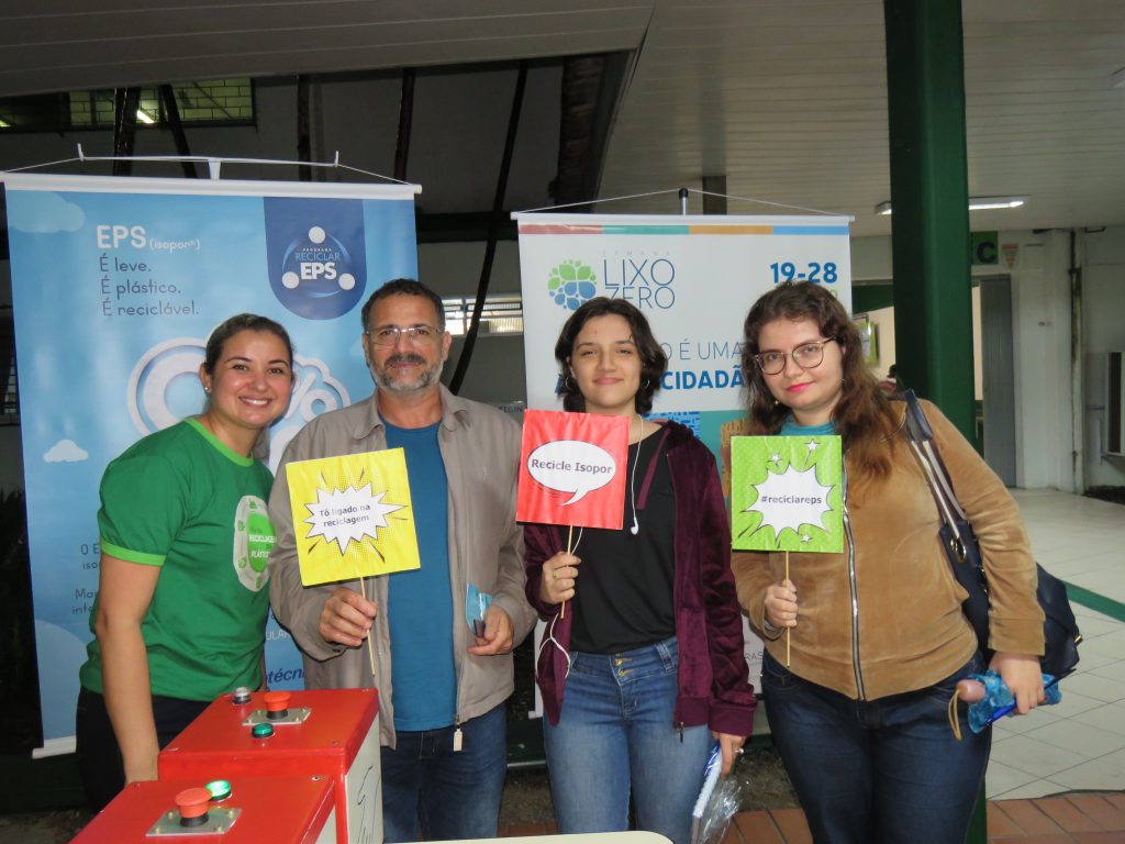
[[[935,443],[980,540],[992,595],[994,650],[1043,653],[1036,574],[1015,500],[953,424],[922,402]],[[904,414],[906,406],[896,403]],[[961,611],[964,590],[942,550],[925,475],[900,428],[891,475],[845,499],[843,554],[790,554],[798,623],[790,671],[853,699],[924,689],[964,665],[976,638]],[[845,468],[847,459],[845,458]],[[736,553],[738,600],[770,653],[785,663],[785,637],[766,637],[766,587],[784,578],[785,555]]]

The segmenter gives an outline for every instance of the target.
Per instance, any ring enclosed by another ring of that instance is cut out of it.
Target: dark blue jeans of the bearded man
[[[495,838],[507,770],[507,719],[501,704],[453,727],[399,731],[384,747],[382,837],[388,842]]]

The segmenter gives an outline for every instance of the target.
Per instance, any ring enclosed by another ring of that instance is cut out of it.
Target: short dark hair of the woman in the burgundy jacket
[[[555,343],[555,360],[559,362],[558,394],[562,396],[562,407],[568,411],[585,411],[586,398],[578,392],[578,385],[569,376],[570,357],[574,354],[574,341],[582,333],[583,326],[595,316],[620,316],[629,323],[633,344],[640,354],[640,389],[633,398],[638,413],[652,410],[652,396],[660,388],[660,377],[668,368],[668,356],[652,336],[645,314],[623,299],[610,299],[597,296],[578,307],[566,321]]]

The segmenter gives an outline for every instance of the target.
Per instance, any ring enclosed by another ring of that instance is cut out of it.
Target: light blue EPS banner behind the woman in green
[[[417,276],[411,185],[6,174],[44,737],[74,731],[98,590],[98,484],[134,440],[200,412],[212,329],[277,320],[296,347],[276,463],[313,416],[362,399],[360,307]],[[268,587],[262,581],[261,587]],[[300,688],[272,621],[269,683]]]

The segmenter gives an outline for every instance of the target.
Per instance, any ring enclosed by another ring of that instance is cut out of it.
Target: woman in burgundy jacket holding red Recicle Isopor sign
[[[567,411],[629,419],[620,530],[531,524],[528,600],[548,620],[538,681],[559,833],[691,837],[718,740],[726,774],[755,707],[714,458],[683,425],[644,419],[667,358],[644,314],[598,297],[555,347]],[[565,611],[564,611],[564,602]]]

